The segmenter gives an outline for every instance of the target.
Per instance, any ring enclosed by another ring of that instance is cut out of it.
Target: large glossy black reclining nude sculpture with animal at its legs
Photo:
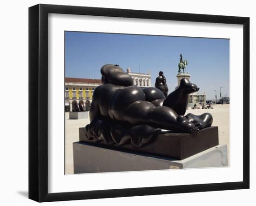
[[[199,90],[185,78],[165,98],[155,87],[135,86],[118,65],[102,66],[101,75],[103,84],[95,88],[91,122],[85,127],[87,140],[141,147],[158,134],[196,133],[212,124],[209,113],[184,116],[189,93]]]

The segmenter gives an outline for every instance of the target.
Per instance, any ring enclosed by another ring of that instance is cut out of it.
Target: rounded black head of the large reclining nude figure
[[[101,81],[103,84],[111,83],[117,86],[132,86],[132,77],[125,73],[119,65],[106,64],[101,67]]]

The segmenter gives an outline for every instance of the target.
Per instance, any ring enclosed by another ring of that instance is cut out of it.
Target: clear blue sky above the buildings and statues
[[[229,40],[149,36],[111,33],[65,32],[65,75],[101,79],[105,64],[118,64],[126,71],[147,73],[151,70],[152,86],[163,71],[169,92],[177,85],[180,53],[188,60],[190,81],[206,93],[206,99],[229,96]]]

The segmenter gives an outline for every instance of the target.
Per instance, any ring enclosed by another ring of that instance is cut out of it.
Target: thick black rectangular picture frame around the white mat
[[[243,25],[243,181],[48,193],[48,13]],[[29,199],[38,202],[249,188],[249,18],[39,4],[29,8]]]

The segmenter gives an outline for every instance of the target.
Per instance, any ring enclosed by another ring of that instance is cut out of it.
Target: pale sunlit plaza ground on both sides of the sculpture
[[[186,113],[194,113],[196,115],[209,112],[213,116],[213,126],[219,127],[219,144],[228,145],[229,159],[229,105],[212,105],[214,109],[188,109]],[[69,120],[66,113],[66,141],[65,141],[65,171],[66,174],[73,174],[73,142],[79,141],[78,128],[86,126],[89,119]]]

